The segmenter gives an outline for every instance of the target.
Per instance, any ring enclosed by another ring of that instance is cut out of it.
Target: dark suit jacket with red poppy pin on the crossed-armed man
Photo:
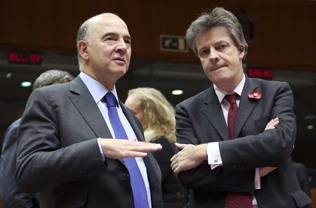
[[[249,98],[258,90],[260,99]],[[270,119],[279,117],[276,129],[264,131]],[[230,140],[223,111],[211,88],[176,106],[179,143],[219,142],[223,167],[211,170],[207,162],[179,174],[185,188],[195,190],[194,207],[225,207],[228,191],[254,192],[258,207],[303,207],[310,203],[299,188],[291,161],[296,136],[294,101],[289,84],[246,77],[235,135]],[[261,178],[254,190],[255,169],[277,167]]]

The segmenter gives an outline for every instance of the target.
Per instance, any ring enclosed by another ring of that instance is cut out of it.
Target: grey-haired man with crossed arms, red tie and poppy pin
[[[171,167],[194,190],[193,207],[309,204],[291,161],[296,116],[289,84],[246,77],[242,27],[223,8],[192,22],[186,40],[213,82],[176,106],[180,152]]]

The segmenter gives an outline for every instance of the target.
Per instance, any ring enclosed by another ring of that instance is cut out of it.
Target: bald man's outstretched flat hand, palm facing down
[[[162,145],[157,143],[146,143],[127,139],[101,138],[100,144],[103,150],[103,155],[111,159],[146,157],[147,152],[162,149]]]

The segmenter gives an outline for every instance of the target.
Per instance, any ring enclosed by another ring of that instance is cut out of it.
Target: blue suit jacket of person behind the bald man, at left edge
[[[15,183],[16,141],[20,119],[8,127],[4,133],[4,143],[0,159],[0,194],[5,208],[39,207],[38,193],[23,193]]]

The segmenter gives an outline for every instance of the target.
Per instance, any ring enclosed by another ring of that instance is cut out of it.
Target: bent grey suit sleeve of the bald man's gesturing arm
[[[54,95],[43,89],[32,92],[21,119],[15,172],[18,186],[27,191],[39,191],[104,173],[96,138],[87,141],[72,138],[78,142],[62,144],[58,121],[60,106],[55,103]]]

